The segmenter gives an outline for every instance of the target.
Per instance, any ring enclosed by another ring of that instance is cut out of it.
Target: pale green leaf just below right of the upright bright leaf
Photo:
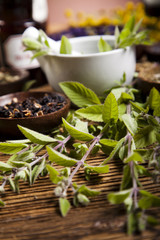
[[[132,136],[137,132],[137,121],[130,116],[130,114],[122,115],[122,120],[127,127],[127,130],[132,134]]]

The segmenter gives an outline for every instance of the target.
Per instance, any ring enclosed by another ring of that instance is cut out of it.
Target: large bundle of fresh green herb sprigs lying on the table
[[[146,102],[141,102],[137,100],[139,91],[125,86],[124,78],[103,100],[80,83],[61,83],[78,110],[72,110],[51,135],[19,126],[25,140],[0,143],[0,152],[10,155],[6,163],[0,162],[1,206],[5,205],[6,184],[19,192],[20,180],[32,185],[48,174],[64,217],[71,205],[86,206],[91,197],[100,194],[87,187],[87,181],[93,174],[107,174],[110,160],[120,159],[124,164],[122,181],[118,192],[108,194],[109,202],[125,205],[128,234],[157,223],[146,210],[159,207],[160,198],[143,189],[141,176],[156,182],[160,174],[160,93],[153,88]],[[104,161],[98,166],[88,164],[88,156],[99,151],[105,153]],[[84,185],[74,181],[80,169],[86,176]],[[73,193],[72,203],[67,199],[68,190]]]

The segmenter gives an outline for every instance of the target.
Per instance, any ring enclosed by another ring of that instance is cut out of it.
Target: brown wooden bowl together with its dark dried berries
[[[0,137],[22,139],[17,125],[50,133],[66,117],[70,100],[57,92],[18,92],[0,97]],[[5,115],[5,116],[4,116]]]

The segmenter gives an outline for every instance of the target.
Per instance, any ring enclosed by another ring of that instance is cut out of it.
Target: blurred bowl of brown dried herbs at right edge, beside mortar
[[[160,91],[159,63],[146,62],[137,64],[137,72],[137,87],[142,91],[143,94],[148,95],[153,87]]]

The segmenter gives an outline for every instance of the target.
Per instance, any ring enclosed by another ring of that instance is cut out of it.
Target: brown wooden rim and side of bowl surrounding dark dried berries
[[[36,99],[42,98],[46,92],[18,92],[13,94],[7,94],[0,97],[0,106],[4,106],[12,101],[13,98],[17,98],[18,102],[22,102],[29,97]],[[17,139],[24,138],[18,129],[17,125],[21,125],[32,130],[49,133],[55,126],[61,123],[62,117],[66,117],[69,107],[70,100],[61,93],[48,92],[52,95],[63,96],[66,100],[66,104],[55,112],[44,114],[38,117],[26,117],[26,118],[2,118],[0,117],[0,137],[3,139]]]

